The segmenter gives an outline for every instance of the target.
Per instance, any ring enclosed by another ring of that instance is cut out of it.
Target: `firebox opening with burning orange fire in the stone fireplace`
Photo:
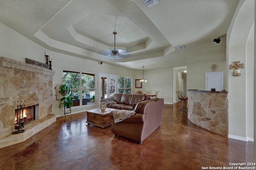
[[[18,119],[24,121],[24,124],[29,123],[31,121],[35,120],[35,114],[36,114],[36,106],[28,106],[24,107],[23,109],[23,117],[22,117],[22,112],[18,112]],[[17,111],[18,109],[15,109],[15,122],[14,124],[17,123]]]

